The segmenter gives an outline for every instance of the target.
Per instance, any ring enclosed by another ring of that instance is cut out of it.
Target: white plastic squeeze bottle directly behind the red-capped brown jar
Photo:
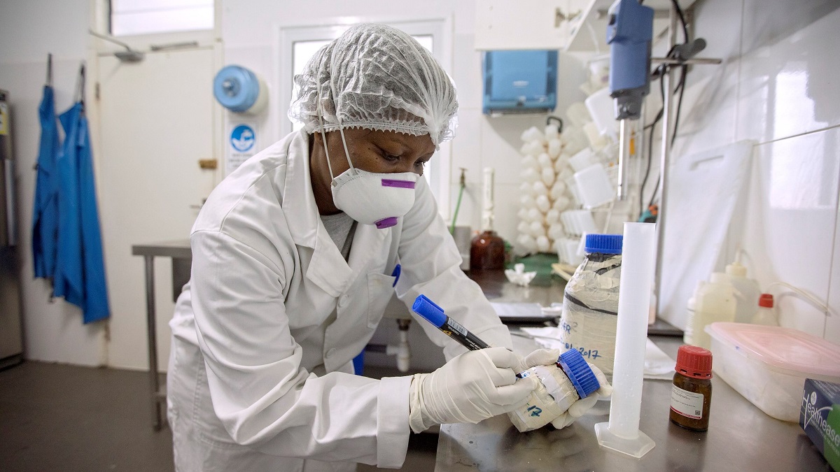
[[[722,272],[712,272],[709,281],[696,298],[697,309],[692,326],[692,340],[695,346],[711,349],[711,338],[706,326],[715,322],[735,320],[735,287]]]

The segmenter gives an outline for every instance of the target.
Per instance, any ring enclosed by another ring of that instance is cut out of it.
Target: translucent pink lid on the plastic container
[[[716,322],[706,333],[780,374],[840,379],[840,346],[798,329]]]

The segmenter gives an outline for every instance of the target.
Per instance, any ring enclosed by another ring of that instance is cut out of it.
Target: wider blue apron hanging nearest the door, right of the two
[[[79,101],[59,120],[65,142],[56,161],[59,175],[58,249],[54,295],[81,307],[84,323],[110,316],[96,182],[85,117],[85,66],[79,71]]]

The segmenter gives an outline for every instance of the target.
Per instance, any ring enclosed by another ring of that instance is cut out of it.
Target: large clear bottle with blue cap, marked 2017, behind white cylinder
[[[587,234],[585,257],[566,284],[560,341],[612,379],[616,352],[621,234]]]

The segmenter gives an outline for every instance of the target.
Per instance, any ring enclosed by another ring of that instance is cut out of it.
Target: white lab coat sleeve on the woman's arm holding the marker
[[[407,450],[410,377],[302,369],[283,258],[218,231],[192,234],[192,308],[213,410],[265,454],[396,468]]]

